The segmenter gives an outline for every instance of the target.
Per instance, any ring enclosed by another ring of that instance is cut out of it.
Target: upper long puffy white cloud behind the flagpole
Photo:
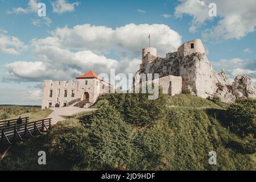
[[[164,24],[126,24],[115,29],[90,24],[77,25],[73,28],[56,28],[52,36],[34,39],[35,45],[54,45],[65,49],[90,50],[98,54],[114,51],[119,56],[137,57],[141,49],[148,45],[158,49],[160,56],[176,51],[181,45],[181,36]]]

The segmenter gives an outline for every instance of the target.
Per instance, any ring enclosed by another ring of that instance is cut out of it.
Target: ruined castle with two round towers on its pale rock
[[[256,89],[249,77],[237,76],[229,84],[224,70],[220,73],[213,70],[200,39],[185,42],[164,58],[157,56],[156,48],[143,48],[142,64],[135,73],[133,86],[141,84],[142,73],[158,73],[163,93],[171,96],[189,91],[202,98],[218,96],[223,102],[233,102],[240,97],[256,98]]]

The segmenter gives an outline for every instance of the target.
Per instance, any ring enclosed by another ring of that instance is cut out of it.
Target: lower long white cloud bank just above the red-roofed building
[[[6,64],[7,73],[3,76],[3,80],[19,82],[40,82],[46,79],[73,80],[89,69],[101,73],[118,65],[118,61],[96,55],[91,51],[71,52],[49,46],[38,47],[36,53],[42,61],[15,61]]]

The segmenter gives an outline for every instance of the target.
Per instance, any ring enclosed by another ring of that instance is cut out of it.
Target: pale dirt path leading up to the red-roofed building
[[[47,118],[52,118],[52,125],[55,125],[57,122],[63,121],[74,114],[95,110],[95,109],[84,109],[84,108],[73,107],[73,106],[51,108],[51,109],[53,110],[53,112]]]

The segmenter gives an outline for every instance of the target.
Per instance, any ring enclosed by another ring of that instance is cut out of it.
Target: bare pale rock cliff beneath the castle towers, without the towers
[[[224,102],[233,102],[236,98],[256,98],[256,89],[251,79],[245,75],[237,76],[232,84],[229,83],[225,71],[217,73],[213,70],[205,53],[191,53],[185,57],[177,52],[167,53],[165,58],[156,58],[143,65],[136,73],[159,73],[159,78],[173,75],[181,76],[182,89],[191,90],[195,96],[208,98],[219,96]]]

